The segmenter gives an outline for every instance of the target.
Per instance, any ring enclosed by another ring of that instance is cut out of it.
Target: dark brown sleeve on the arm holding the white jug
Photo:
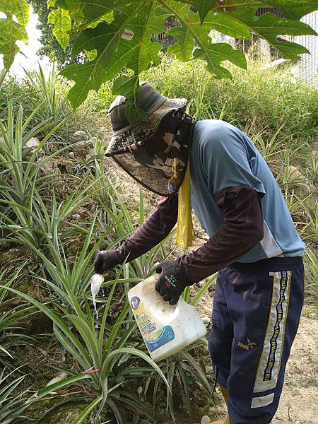
[[[261,196],[237,186],[215,194],[223,224],[199,249],[177,259],[177,268],[196,283],[240,259],[264,237]]]

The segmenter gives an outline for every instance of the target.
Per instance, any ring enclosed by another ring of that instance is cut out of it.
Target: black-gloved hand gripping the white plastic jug
[[[185,272],[177,269],[175,261],[161,262],[155,266],[155,272],[160,273],[155,291],[163,296],[163,300],[169,301],[170,305],[176,305],[184,288],[193,284]]]

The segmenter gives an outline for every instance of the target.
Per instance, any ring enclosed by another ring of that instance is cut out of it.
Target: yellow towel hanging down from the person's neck
[[[190,158],[184,180],[178,192],[178,222],[177,237],[175,244],[182,249],[192,246],[194,240],[194,229],[192,223],[191,202],[190,202]]]

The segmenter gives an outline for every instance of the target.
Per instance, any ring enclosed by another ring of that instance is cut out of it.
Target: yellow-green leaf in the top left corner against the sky
[[[25,26],[28,24],[30,7],[26,0],[0,0],[0,12],[6,18],[0,19],[0,54],[4,56],[4,66],[8,70],[20,49],[17,41],[28,43]]]

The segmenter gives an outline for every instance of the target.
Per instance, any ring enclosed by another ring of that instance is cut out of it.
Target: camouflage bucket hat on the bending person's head
[[[145,140],[158,129],[161,119],[173,110],[185,108],[188,100],[165,98],[151,84],[143,82],[136,98],[136,105],[146,112],[148,122],[129,124],[125,117],[128,102],[124,96],[117,96],[108,110],[112,124],[112,139],[105,155],[118,154],[128,146]]]

